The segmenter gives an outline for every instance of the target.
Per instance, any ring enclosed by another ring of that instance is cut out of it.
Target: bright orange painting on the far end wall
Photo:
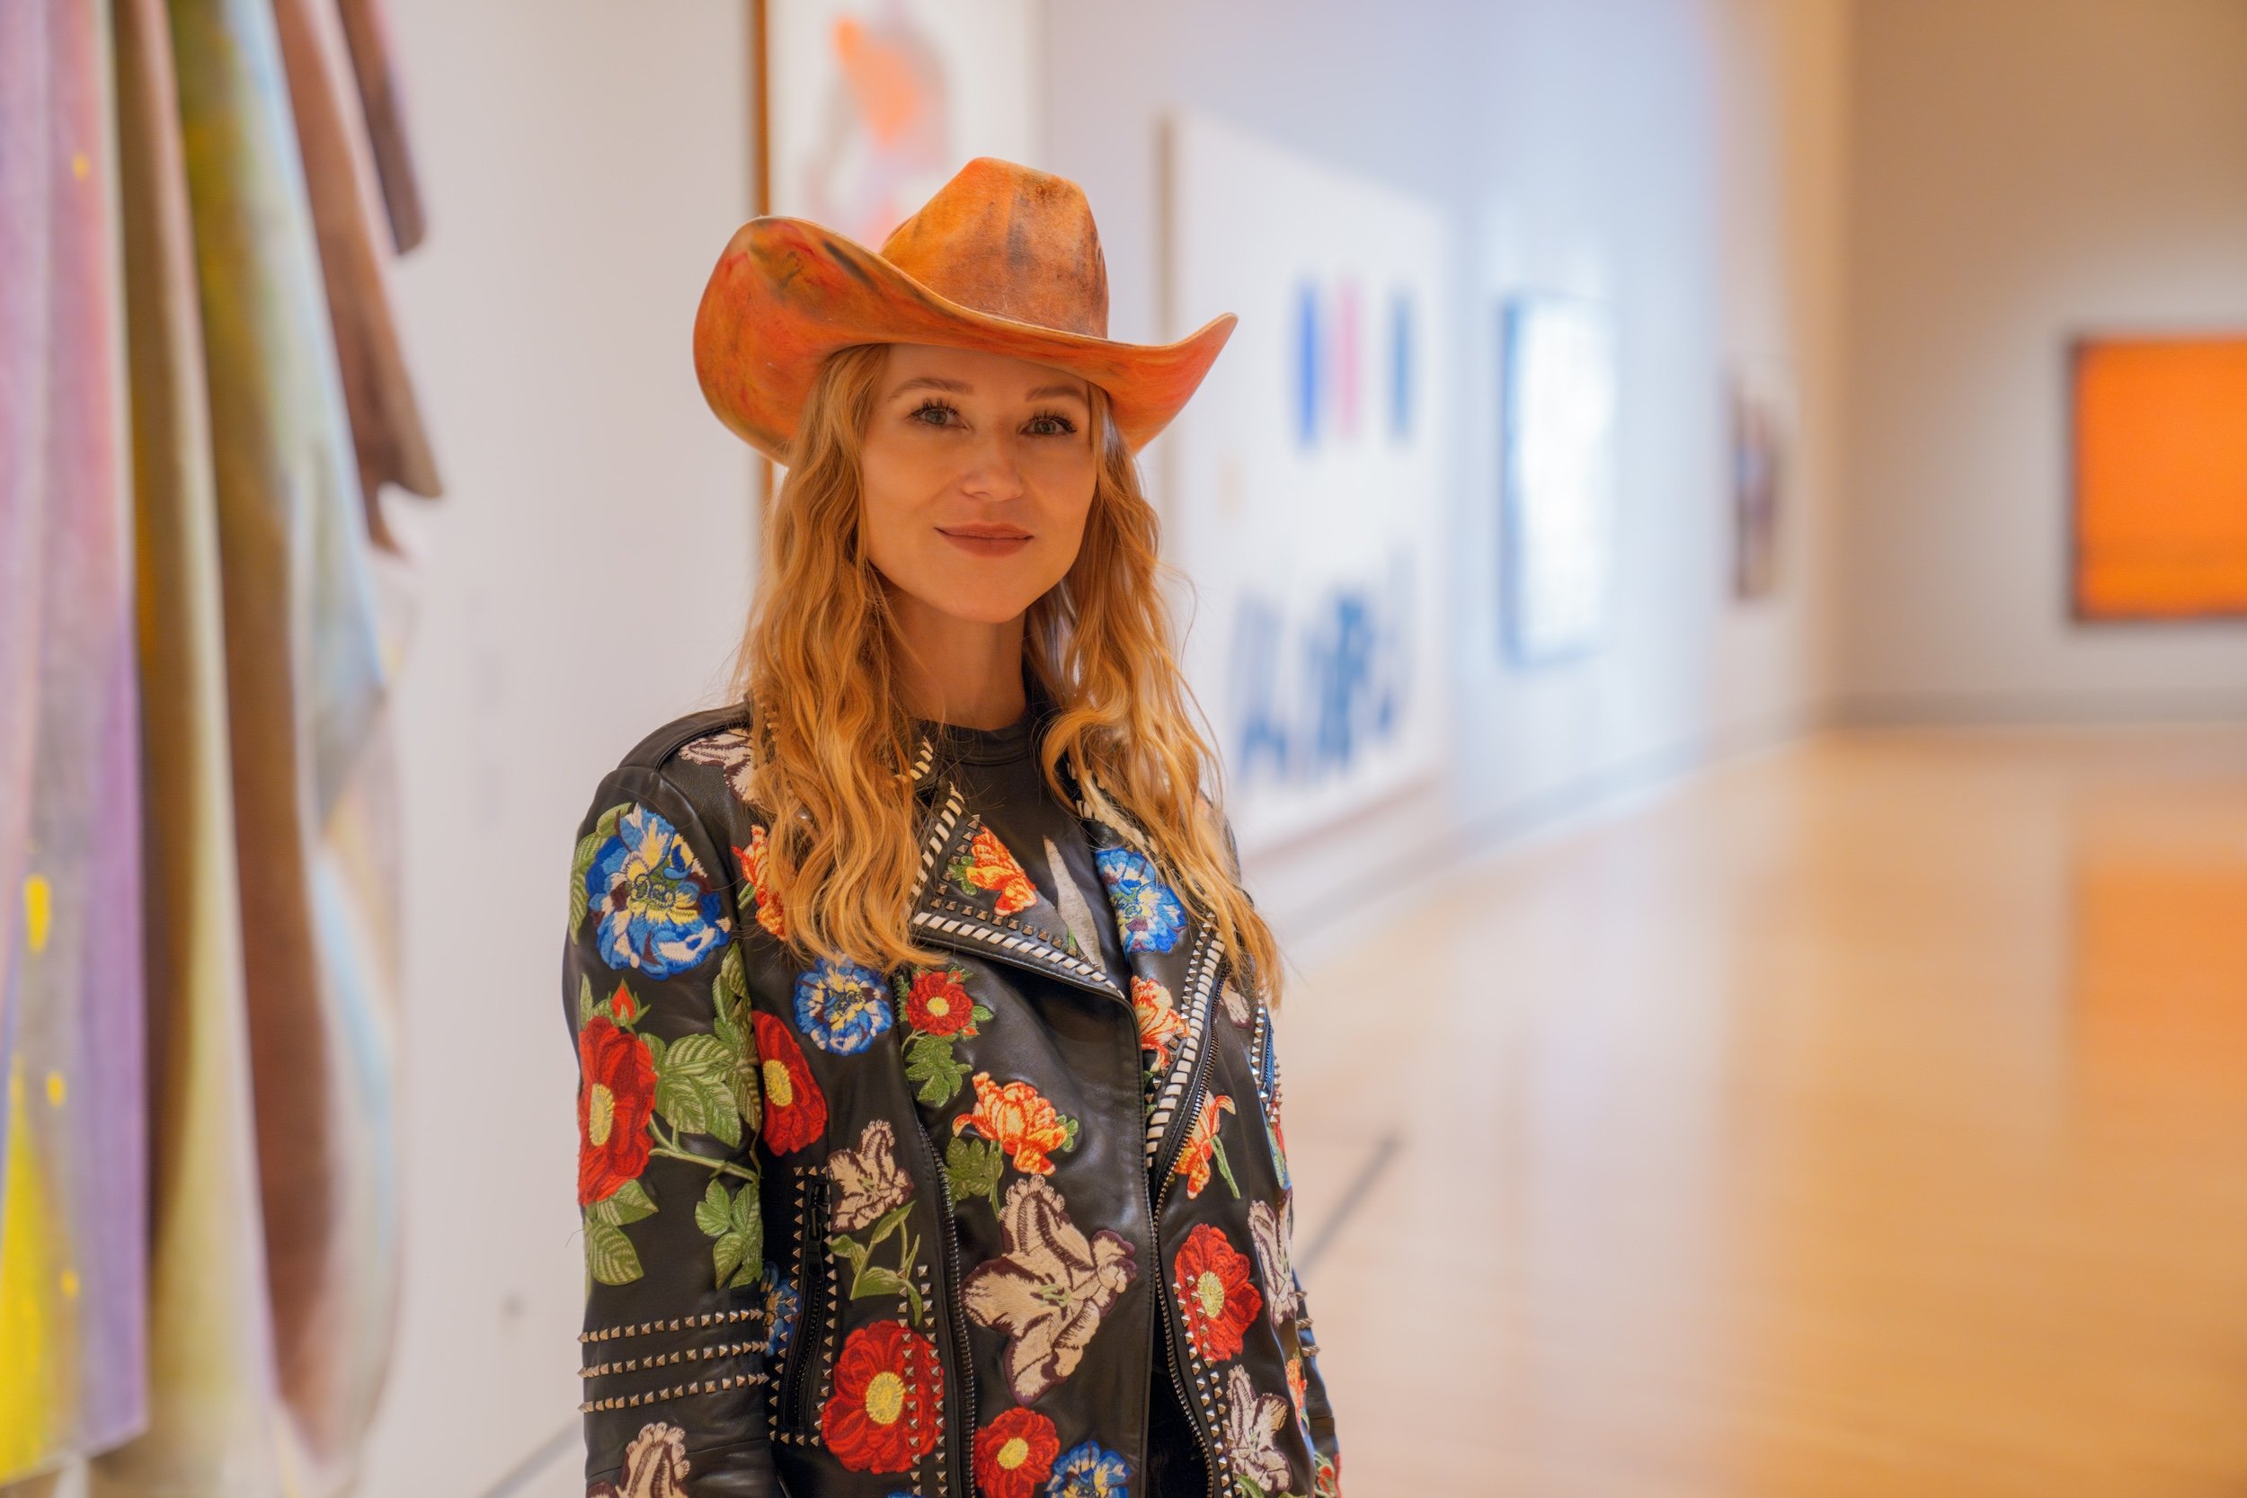
[[[2074,346],[2072,611],[2247,615],[2247,337]]]

